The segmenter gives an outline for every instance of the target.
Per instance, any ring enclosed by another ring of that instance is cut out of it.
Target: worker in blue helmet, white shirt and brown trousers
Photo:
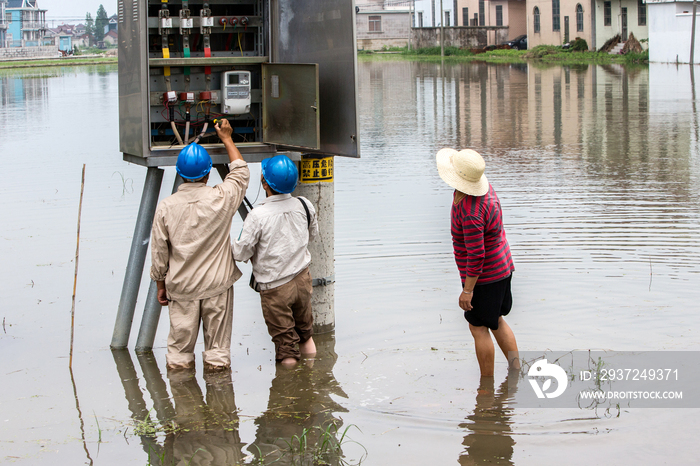
[[[291,195],[299,176],[294,162],[278,155],[264,159],[261,167],[267,198],[246,217],[233,255],[253,264],[275,360],[293,365],[302,355],[316,353],[308,244],[318,235],[318,221],[309,200]]]

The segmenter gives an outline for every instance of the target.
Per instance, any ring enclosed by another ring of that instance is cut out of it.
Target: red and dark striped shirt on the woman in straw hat
[[[477,285],[484,285],[513,273],[501,201],[492,186],[484,196],[465,196],[458,204],[453,202],[450,216],[455,262],[463,283],[467,276],[478,276]]]

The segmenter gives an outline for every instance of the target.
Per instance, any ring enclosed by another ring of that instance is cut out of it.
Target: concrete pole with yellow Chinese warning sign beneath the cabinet
[[[294,196],[311,201],[318,218],[319,236],[309,243],[314,293],[311,305],[314,333],[335,329],[335,186],[333,157],[302,155],[299,184]]]

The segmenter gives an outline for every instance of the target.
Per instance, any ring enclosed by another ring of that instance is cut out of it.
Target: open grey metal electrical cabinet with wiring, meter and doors
[[[353,0],[119,0],[120,149],[174,165],[189,142],[227,161],[359,156]]]

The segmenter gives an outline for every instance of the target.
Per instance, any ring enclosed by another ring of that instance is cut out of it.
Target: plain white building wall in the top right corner
[[[692,2],[648,3],[649,61],[690,62]],[[688,13],[684,13],[688,11]],[[700,14],[698,15],[700,16]],[[695,25],[695,63],[700,63],[700,18]]]

